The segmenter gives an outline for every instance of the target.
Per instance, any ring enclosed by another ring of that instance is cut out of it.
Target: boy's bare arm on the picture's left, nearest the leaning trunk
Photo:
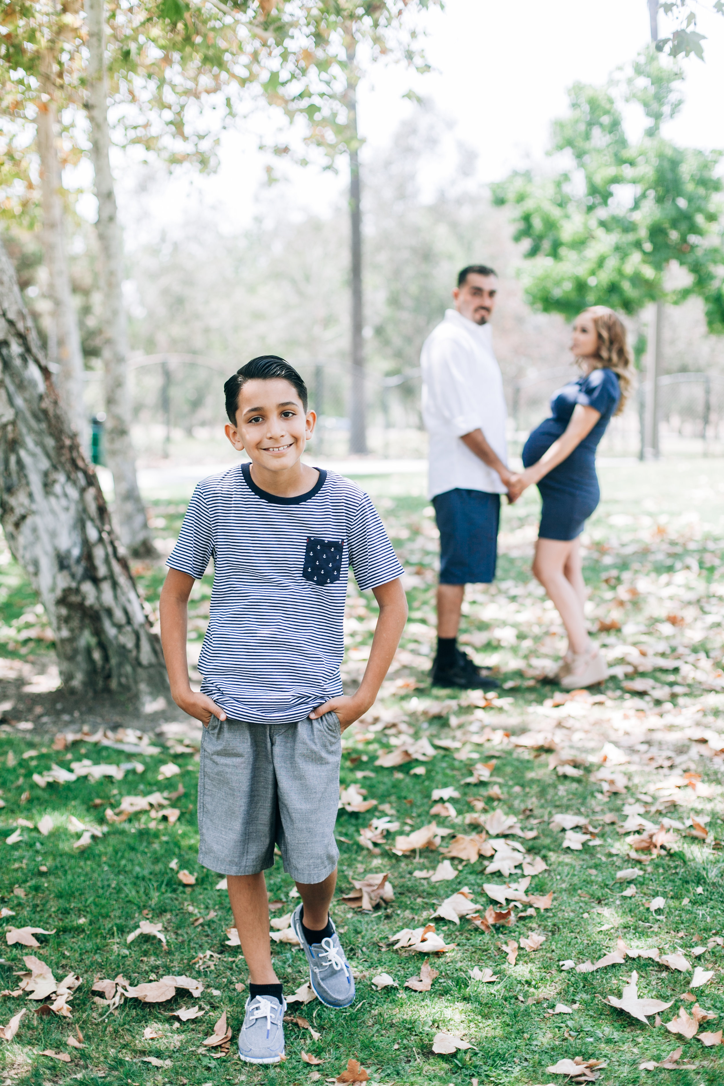
[[[169,569],[161,590],[161,644],[164,651],[170,694],[179,709],[200,720],[204,728],[212,717],[226,720],[226,712],[211,697],[196,694],[189,683],[186,658],[186,629],[193,578]]]

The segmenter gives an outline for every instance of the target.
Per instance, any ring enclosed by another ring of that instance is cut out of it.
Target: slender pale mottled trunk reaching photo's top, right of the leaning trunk
[[[128,340],[123,302],[123,244],[111,173],[111,136],[105,77],[103,0],[87,0],[88,100],[91,157],[98,198],[98,240],[103,293],[102,334],[105,370],[105,455],[115,488],[114,521],[129,554],[153,557],[155,550],[136,479],[136,456],[130,440]]]

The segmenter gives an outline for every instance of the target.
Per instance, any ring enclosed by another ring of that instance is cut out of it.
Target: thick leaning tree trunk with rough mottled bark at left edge
[[[64,685],[89,695],[167,693],[158,639],[1,243],[0,521],[46,608]]]

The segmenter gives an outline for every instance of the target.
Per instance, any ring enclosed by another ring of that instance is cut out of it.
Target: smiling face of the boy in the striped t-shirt
[[[246,381],[239,393],[237,425],[225,432],[233,447],[243,449],[259,467],[282,471],[300,459],[317,416],[304,412],[293,384],[283,378]]]

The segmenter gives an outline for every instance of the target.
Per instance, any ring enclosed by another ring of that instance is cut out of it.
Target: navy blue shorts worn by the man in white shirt
[[[490,584],[498,552],[500,495],[446,490],[432,500],[440,529],[440,583]]]

